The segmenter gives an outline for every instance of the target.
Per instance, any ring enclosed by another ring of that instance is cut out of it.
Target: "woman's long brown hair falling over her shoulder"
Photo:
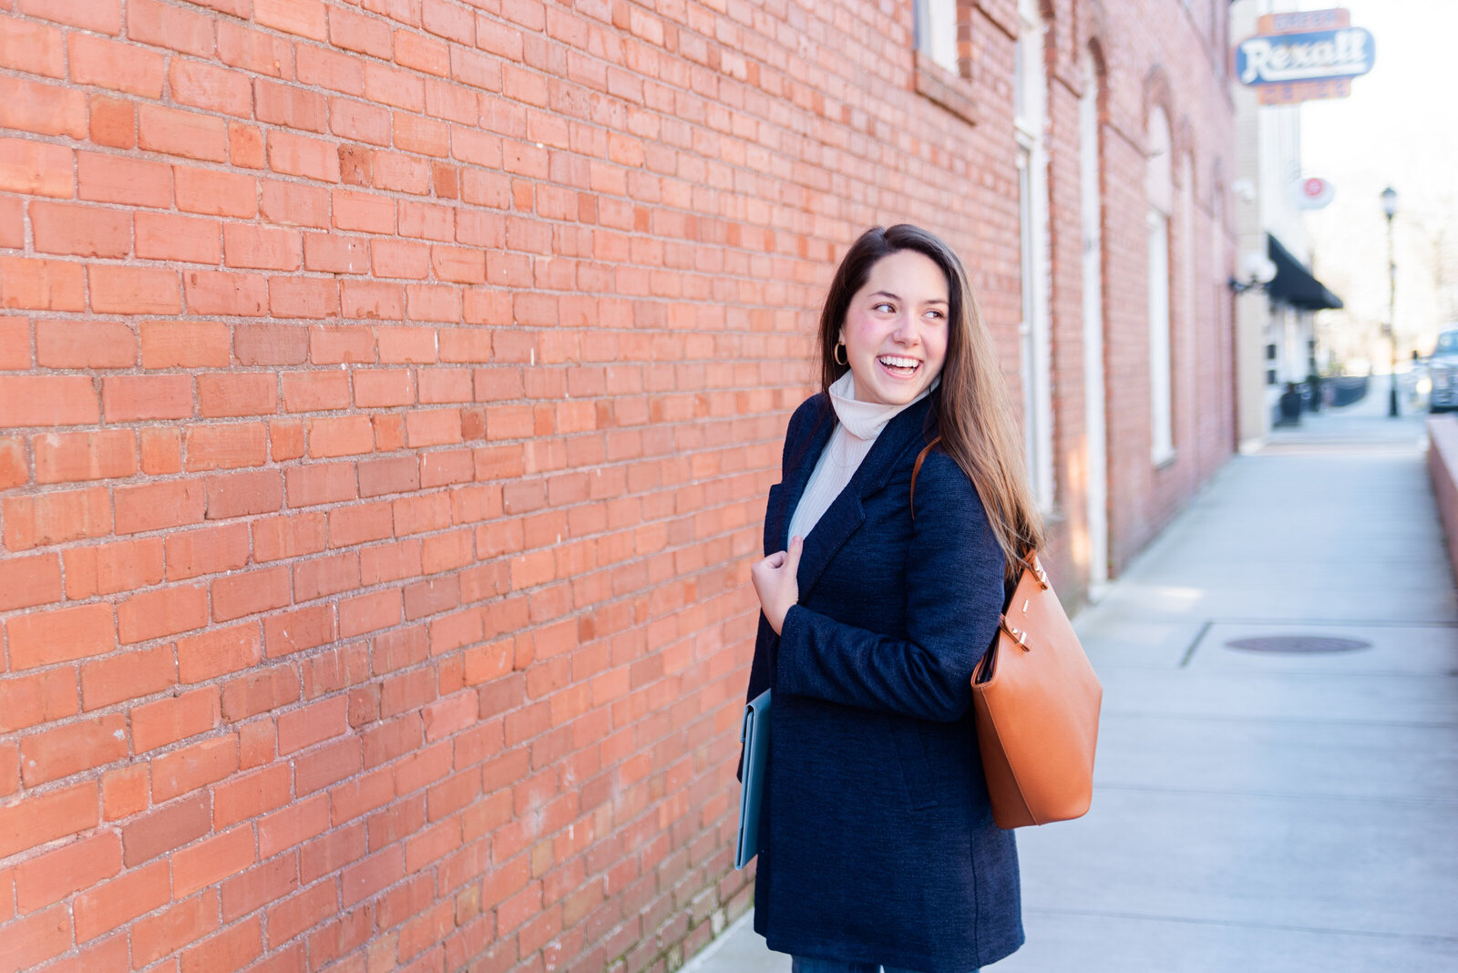
[[[997,370],[991,335],[977,310],[967,269],[952,248],[910,223],[870,227],[851,243],[835,269],[821,310],[821,386],[830,389],[850,370],[837,364],[835,345],[840,344],[851,297],[866,285],[876,261],[900,251],[923,253],[946,275],[949,332],[936,408],[940,449],[977,488],[993,536],[1003,551],[1006,575],[1015,577],[1022,552],[1042,549],[1042,516],[1028,485],[1022,437],[1013,422],[1007,386]]]

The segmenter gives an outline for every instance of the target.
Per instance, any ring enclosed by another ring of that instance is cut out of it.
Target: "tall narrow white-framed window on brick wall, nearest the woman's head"
[[[1053,382],[1048,336],[1048,150],[1042,17],[1037,0],[1018,4],[1013,77],[1018,138],[1018,216],[1022,230],[1021,344],[1024,436],[1028,476],[1041,507],[1053,505]]]

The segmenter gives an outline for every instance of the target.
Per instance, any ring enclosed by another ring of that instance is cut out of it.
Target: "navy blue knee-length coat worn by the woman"
[[[971,714],[1003,555],[946,453],[921,466],[914,520],[908,504],[939,401],[886,424],[805,537],[781,634],[760,616],[746,699],[774,693],[754,928],[780,953],[968,973],[1024,939],[1018,854],[993,823]],[[787,546],[834,427],[825,393],[790,418],[765,555]]]

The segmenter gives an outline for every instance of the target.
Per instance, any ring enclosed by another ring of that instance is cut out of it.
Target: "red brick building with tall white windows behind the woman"
[[[0,7],[4,970],[742,913],[748,565],[866,226],[968,262],[1070,600],[1231,453],[1217,0]]]

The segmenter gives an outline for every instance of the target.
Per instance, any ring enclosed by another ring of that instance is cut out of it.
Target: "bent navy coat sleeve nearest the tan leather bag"
[[[961,468],[942,452],[921,466],[905,564],[907,638],[792,606],[774,658],[777,692],[923,720],[959,720],[993,641],[1003,556]]]

